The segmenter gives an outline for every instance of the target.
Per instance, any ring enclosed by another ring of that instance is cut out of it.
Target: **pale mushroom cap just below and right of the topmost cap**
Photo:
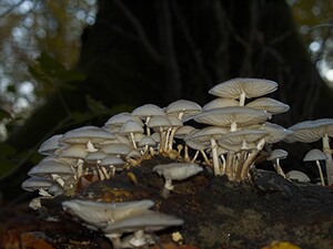
[[[280,101],[275,101],[274,98],[271,97],[256,98],[250,102],[249,104],[246,104],[245,106],[265,111],[273,115],[279,113],[285,113],[286,111],[290,110],[290,106],[287,104],[284,104]]]

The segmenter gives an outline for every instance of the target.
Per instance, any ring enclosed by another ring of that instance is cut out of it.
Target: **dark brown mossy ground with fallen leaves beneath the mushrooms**
[[[170,162],[154,157],[110,180],[81,184],[73,197],[43,199],[38,211],[28,204],[2,207],[0,248],[112,248],[102,232],[89,230],[62,211],[61,201],[70,198],[152,199],[152,209],[181,217],[183,226],[155,234],[160,242],[154,248],[259,249],[273,241],[289,241],[302,249],[333,248],[332,187],[292,183],[255,168],[251,180],[234,183],[213,177],[205,168],[174,181],[165,199],[161,197],[164,179],[152,167]],[[186,246],[172,242],[173,232],[180,232]]]

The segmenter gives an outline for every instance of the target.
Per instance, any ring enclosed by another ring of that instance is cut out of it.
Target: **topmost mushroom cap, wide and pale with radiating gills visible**
[[[209,93],[226,98],[239,98],[240,94],[245,93],[251,98],[272,93],[276,89],[278,83],[270,80],[236,77],[215,85]]]

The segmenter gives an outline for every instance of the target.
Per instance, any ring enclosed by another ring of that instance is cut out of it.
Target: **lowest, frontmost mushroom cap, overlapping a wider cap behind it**
[[[137,230],[157,231],[167,227],[181,226],[184,220],[159,211],[144,210],[103,228],[104,234],[123,234]]]

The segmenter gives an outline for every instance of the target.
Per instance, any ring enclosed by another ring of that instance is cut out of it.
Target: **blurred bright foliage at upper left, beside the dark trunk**
[[[81,77],[70,69],[80,55],[82,30],[94,23],[95,12],[95,0],[1,0],[1,103],[10,105],[17,116],[28,116],[54,90],[46,79],[39,81],[40,71],[30,66],[29,72],[36,59],[44,66],[42,73],[48,74],[48,63],[54,68],[59,62],[60,71],[53,72],[59,80]]]

